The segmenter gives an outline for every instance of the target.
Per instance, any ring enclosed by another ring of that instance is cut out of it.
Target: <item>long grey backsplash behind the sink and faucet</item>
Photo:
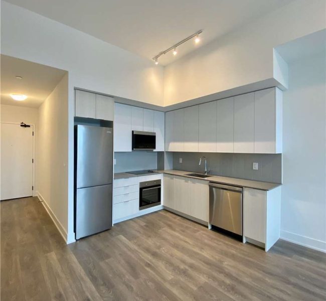
[[[281,154],[231,154],[231,153],[173,153],[173,169],[189,172],[204,172],[198,165],[200,157],[207,158],[210,174],[255,181],[282,183]],[[183,163],[179,163],[182,158]],[[252,164],[258,163],[258,170]]]

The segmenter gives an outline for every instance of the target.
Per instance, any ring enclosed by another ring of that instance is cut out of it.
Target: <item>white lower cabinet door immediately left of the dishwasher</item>
[[[208,182],[191,180],[190,182],[190,215],[204,222],[209,218]]]

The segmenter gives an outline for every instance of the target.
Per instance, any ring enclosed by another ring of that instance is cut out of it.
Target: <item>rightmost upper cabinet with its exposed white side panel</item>
[[[282,92],[278,88],[255,92],[254,152],[282,153]]]

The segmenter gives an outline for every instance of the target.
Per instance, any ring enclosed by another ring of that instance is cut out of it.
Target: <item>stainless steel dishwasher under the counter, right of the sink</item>
[[[209,224],[242,235],[242,188],[210,182]]]

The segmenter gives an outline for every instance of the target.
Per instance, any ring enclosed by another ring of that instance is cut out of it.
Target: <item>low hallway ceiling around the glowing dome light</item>
[[[37,108],[65,73],[57,68],[1,55],[1,104]],[[17,75],[23,79],[17,79]],[[28,98],[17,101],[10,94],[25,94]]]

